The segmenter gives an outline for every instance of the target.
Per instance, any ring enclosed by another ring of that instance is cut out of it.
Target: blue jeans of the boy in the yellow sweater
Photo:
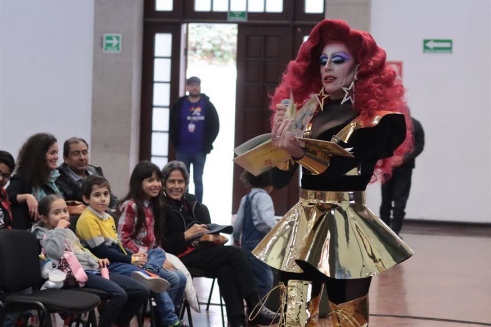
[[[155,248],[147,252],[148,254],[148,262],[143,268],[150,268],[151,270],[155,268],[157,274],[160,276],[160,271],[162,269],[162,264],[165,261],[165,252],[161,248]],[[154,270],[154,271],[155,271]],[[135,265],[121,263],[121,262],[113,262],[109,265],[109,271],[119,273],[125,276],[131,276],[133,271],[142,271],[144,269],[139,268]],[[168,281],[170,284],[170,281]],[[162,292],[159,294],[152,294],[155,299],[155,303],[157,304],[157,310],[160,314],[160,319],[163,324],[172,324],[179,320],[177,315],[175,314],[174,303],[169,296],[168,292]]]

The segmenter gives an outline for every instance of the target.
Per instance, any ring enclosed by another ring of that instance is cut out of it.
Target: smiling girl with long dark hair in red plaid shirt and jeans
[[[149,161],[135,167],[129,180],[129,192],[118,205],[120,215],[118,234],[123,246],[134,253],[146,253],[147,263],[143,269],[166,279],[170,287],[155,299],[162,302],[166,313],[161,312],[162,323],[183,326],[175,315],[181,305],[186,276],[166,259],[165,251],[159,247],[161,235],[162,172]],[[155,237],[157,236],[157,237]]]

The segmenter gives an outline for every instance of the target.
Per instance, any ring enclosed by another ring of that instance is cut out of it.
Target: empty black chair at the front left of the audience
[[[31,232],[0,230],[0,298],[4,303],[0,311],[0,326],[5,314],[29,310],[39,313],[39,326],[51,326],[52,313],[74,315],[93,312],[100,302],[99,296],[88,292],[40,291],[43,279],[38,249],[37,240]],[[32,292],[26,294],[27,289],[32,289]]]

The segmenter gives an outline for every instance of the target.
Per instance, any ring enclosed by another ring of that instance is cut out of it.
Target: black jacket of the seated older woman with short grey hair
[[[210,212],[206,205],[199,203],[192,194],[186,194],[182,204],[188,208],[189,215],[183,214],[178,210],[178,204],[167,197],[162,196],[162,217],[163,235],[162,248],[169,253],[178,255],[189,246],[190,241],[184,239],[186,227],[192,221],[199,221],[203,224],[211,222]]]

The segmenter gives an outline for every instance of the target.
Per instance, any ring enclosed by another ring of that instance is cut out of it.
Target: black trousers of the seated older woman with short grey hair
[[[182,256],[186,267],[218,279],[229,319],[244,314],[243,299],[257,293],[256,282],[244,252],[236,246],[197,248]]]

